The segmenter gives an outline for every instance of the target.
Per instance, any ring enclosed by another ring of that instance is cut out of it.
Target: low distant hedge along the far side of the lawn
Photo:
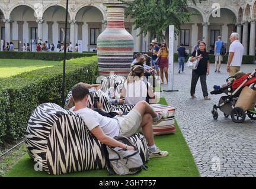
[[[33,60],[63,60],[63,53],[57,52],[17,52],[17,51],[0,51],[0,58],[9,59],[33,59]],[[95,56],[95,53],[66,53],[66,59],[91,57]]]

